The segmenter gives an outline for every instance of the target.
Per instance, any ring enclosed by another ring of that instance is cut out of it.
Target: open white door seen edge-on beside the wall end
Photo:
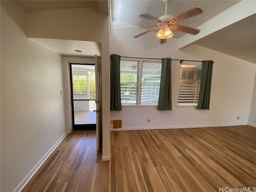
[[[101,59],[95,59],[95,84],[96,84],[96,149],[102,148],[102,86],[101,86]]]

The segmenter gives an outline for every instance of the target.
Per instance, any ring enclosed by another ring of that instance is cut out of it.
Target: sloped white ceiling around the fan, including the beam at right
[[[173,30],[173,38],[178,39],[179,48],[191,43],[197,44],[256,64],[255,2],[255,0],[170,0],[167,14],[173,16],[194,7],[203,10],[203,14],[178,22],[180,25],[200,29],[198,35],[193,36]],[[148,13],[159,18],[164,12],[165,5],[162,0],[112,1],[112,18],[145,30],[156,27],[156,23],[140,18],[140,14]],[[252,12],[252,15],[247,16],[246,12]],[[131,36],[135,35],[131,34]]]

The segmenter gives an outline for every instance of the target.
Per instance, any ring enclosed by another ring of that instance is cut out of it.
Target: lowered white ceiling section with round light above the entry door
[[[63,39],[30,38],[32,41],[61,55],[101,56],[101,43]],[[75,52],[74,50],[82,50]]]

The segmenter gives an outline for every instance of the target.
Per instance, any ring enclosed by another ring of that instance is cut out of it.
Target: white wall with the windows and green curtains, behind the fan
[[[179,62],[172,61],[172,111],[158,111],[156,107],[123,106],[122,111],[111,112],[110,117],[111,120],[122,120],[121,130],[247,124],[256,71],[254,64],[197,45],[177,50],[178,40],[175,38],[161,45],[155,32],[137,39],[132,37],[143,31],[136,26],[113,22],[110,52],[141,58],[214,60],[210,110],[175,106]],[[237,116],[240,116],[240,120],[236,120]]]

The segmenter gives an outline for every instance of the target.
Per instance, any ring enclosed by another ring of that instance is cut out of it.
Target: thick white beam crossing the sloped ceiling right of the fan
[[[203,37],[206,37],[253,14],[256,14],[256,1],[242,0],[204,24],[198,26],[198,29],[200,29],[199,34],[195,36],[186,34],[179,38],[178,49],[184,48]]]

